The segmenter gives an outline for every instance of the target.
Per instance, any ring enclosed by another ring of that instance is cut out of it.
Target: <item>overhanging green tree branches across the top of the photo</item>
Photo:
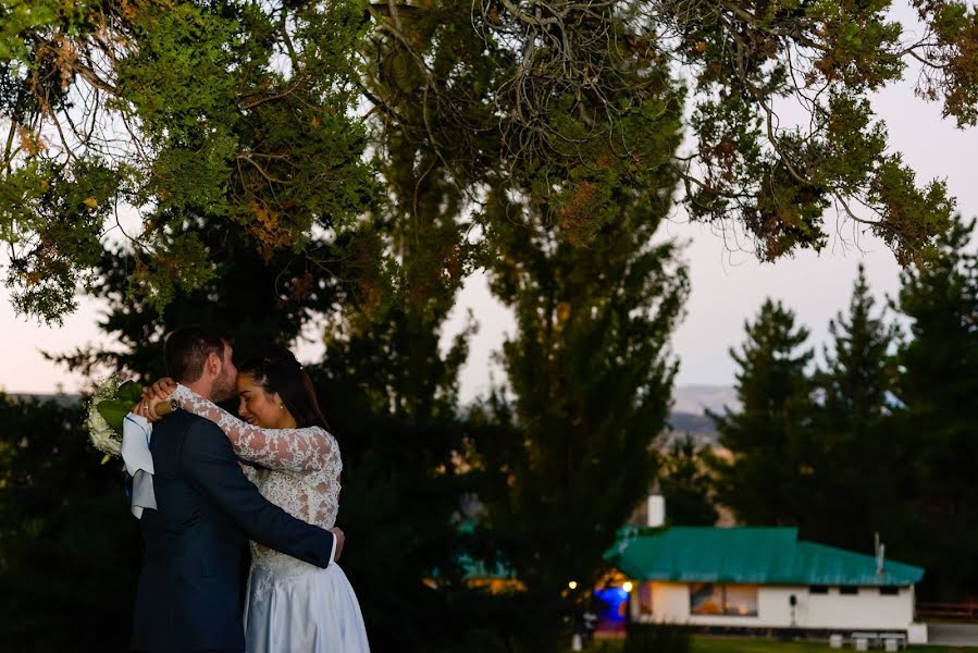
[[[869,94],[912,64],[918,95],[975,124],[978,19],[913,0],[925,30],[911,38],[892,5],[3,0],[5,281],[18,310],[57,320],[115,237],[135,255],[132,292],[162,309],[214,274],[207,244],[174,237],[187,220],[235,222],[264,255],[302,249],[384,197],[369,160],[394,133],[438,160],[485,227],[457,235],[463,263],[493,250],[491,188],[545,206],[586,246],[620,219],[617,189],[658,165],[648,150],[673,120],[689,146],[670,193],[758,256],[821,248],[834,208],[924,261],[954,201],[892,151]],[[380,74],[395,83],[377,88]],[[683,95],[663,104],[664,84]],[[802,120],[782,121],[789,104]]]

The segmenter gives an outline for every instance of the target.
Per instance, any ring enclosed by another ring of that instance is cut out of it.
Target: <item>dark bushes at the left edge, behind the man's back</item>
[[[0,394],[0,629],[27,653],[128,651],[140,550],[81,402]]]

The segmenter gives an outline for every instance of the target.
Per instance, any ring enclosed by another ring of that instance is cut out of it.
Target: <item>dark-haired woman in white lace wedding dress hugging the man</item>
[[[315,401],[309,375],[287,349],[274,347],[238,368],[237,419],[171,379],[147,391],[156,402],[216,423],[234,453],[258,468],[245,473],[285,512],[324,529],[336,521],[343,463],[336,439]],[[367,630],[357,595],[343,569],[325,569],[251,543],[245,604],[248,653],[367,653]]]

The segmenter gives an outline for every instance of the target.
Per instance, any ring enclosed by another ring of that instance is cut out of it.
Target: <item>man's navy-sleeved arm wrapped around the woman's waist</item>
[[[184,470],[249,539],[318,567],[336,546],[330,531],[296,519],[261,495],[237,464],[231,443],[213,422],[190,426],[182,452]]]

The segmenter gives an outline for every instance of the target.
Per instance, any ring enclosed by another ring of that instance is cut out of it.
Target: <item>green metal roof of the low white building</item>
[[[623,531],[607,557],[636,580],[758,584],[908,586],[924,569],[799,541],[796,528],[670,527]]]

